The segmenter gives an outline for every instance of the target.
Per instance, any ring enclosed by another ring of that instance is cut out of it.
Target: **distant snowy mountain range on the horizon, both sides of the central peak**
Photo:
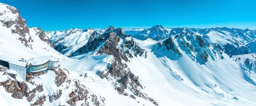
[[[107,28],[106,28],[107,29]],[[57,51],[67,56],[71,55],[78,48],[86,44],[89,36],[95,33],[102,34],[106,29],[69,29],[66,31],[47,32]],[[149,29],[122,29],[127,35],[139,40],[148,38],[155,41],[164,40],[170,36],[192,34],[202,36],[210,44],[218,44],[220,49],[229,55],[255,53],[256,31],[250,29],[235,28],[164,28],[161,25],[155,25]],[[78,36],[79,35],[79,36]],[[67,40],[68,39],[68,40]],[[69,44],[68,44],[69,43]],[[67,49],[69,48],[69,49]]]

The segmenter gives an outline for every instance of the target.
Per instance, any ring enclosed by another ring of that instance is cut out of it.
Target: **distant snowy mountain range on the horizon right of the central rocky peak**
[[[144,29],[133,36],[140,40],[151,38],[158,41],[180,33],[196,33],[198,35],[202,35],[203,39],[208,40],[210,43],[219,43],[222,46],[231,44],[232,47],[244,46],[256,38],[256,31],[250,29],[235,29],[225,27],[205,29],[164,28],[161,25],[155,25],[152,28]]]

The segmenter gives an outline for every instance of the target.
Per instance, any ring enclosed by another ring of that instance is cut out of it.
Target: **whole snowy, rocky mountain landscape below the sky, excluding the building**
[[[256,105],[255,30],[155,25],[44,32],[0,3],[0,31],[0,55],[49,55],[61,64],[34,84],[2,69],[3,105]]]

